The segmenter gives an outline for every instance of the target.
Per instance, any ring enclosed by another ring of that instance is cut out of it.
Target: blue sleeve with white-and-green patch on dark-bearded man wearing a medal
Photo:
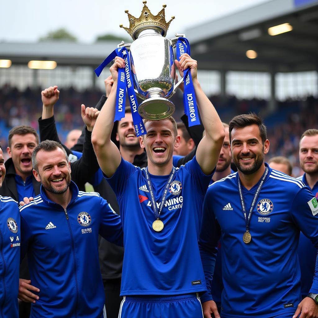
[[[301,188],[294,197],[291,213],[294,223],[318,248],[318,203],[308,187]],[[308,293],[318,294],[318,256],[313,284]]]

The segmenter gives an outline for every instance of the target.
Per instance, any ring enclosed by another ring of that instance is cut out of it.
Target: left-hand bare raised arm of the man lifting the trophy
[[[98,163],[107,177],[111,177],[121,163],[121,154],[110,140],[110,136],[114,126],[118,68],[123,67],[125,67],[124,59],[116,57],[110,68],[114,84],[92,133],[92,143]]]

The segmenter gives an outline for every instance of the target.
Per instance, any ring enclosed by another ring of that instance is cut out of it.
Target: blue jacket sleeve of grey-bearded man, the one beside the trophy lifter
[[[111,243],[120,246],[123,246],[124,244],[124,233],[122,230],[120,216],[110,208],[108,202],[102,197],[100,197],[99,234]]]

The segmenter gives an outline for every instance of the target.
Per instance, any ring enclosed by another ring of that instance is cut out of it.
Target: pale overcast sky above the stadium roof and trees
[[[269,0],[148,0],[147,5],[157,14],[162,4],[167,4],[166,20],[176,17],[169,27],[171,34],[266,1]],[[2,1],[0,42],[35,42],[61,27],[83,43],[92,43],[106,33],[127,37],[126,31],[119,28],[119,24],[129,26],[125,10],[139,17],[142,6],[142,0]]]

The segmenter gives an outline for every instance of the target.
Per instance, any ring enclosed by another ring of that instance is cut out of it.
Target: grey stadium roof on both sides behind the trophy
[[[213,5],[212,5],[213,6]],[[289,23],[293,30],[270,36],[269,27]],[[178,30],[183,31],[183,30]],[[272,0],[185,30],[200,69],[266,72],[318,70],[318,0]],[[0,43],[0,59],[24,64],[33,59],[95,68],[117,42],[66,41]],[[256,59],[248,59],[255,50]]]

